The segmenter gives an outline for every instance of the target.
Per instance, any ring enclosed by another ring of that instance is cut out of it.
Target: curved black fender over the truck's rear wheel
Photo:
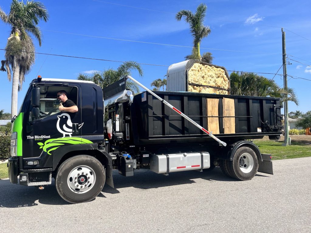
[[[237,151],[238,148],[241,146],[248,146],[254,150],[254,152],[257,155],[258,161],[263,161],[262,160],[262,155],[260,153],[260,150],[258,146],[256,146],[253,142],[251,141],[238,141],[235,142],[234,144],[227,145],[222,149],[222,151],[218,154],[218,158],[220,159],[225,159],[225,160],[233,160],[233,155]]]

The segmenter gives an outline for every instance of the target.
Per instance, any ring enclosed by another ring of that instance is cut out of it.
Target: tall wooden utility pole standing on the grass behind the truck
[[[287,89],[285,31],[283,31],[283,28],[282,28],[282,54],[283,54],[284,89]],[[288,145],[288,105],[286,100],[284,101],[284,143],[282,144],[282,146],[287,145]]]

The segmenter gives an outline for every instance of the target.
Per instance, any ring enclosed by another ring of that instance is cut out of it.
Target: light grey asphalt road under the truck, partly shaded
[[[44,190],[0,180],[4,232],[311,232],[311,157],[273,161],[252,180],[186,171],[114,173],[93,201],[69,204]]]

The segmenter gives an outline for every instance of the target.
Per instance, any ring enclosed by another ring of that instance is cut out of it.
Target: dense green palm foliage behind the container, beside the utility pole
[[[230,94],[278,97],[281,98],[281,103],[292,101],[296,105],[299,104],[294,89],[280,88],[274,80],[254,73],[232,72],[230,74]]]

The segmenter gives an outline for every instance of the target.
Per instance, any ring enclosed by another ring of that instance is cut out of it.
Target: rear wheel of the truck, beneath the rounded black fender
[[[257,155],[246,146],[238,148],[233,160],[227,162],[230,176],[238,180],[251,180],[258,171]]]

